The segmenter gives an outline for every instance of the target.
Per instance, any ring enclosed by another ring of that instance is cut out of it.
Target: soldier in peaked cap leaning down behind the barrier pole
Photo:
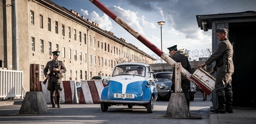
[[[172,55],[172,59],[174,61],[176,61],[177,63],[181,63],[182,67],[185,70],[187,70],[189,73],[192,73],[192,69],[191,69],[191,66],[189,64],[187,56],[181,54],[177,50],[177,45],[174,45],[174,46],[169,47],[167,49],[169,50],[170,55]],[[172,82],[173,82],[172,87],[174,87],[174,84],[175,84],[175,70],[173,70]],[[186,102],[187,102],[187,107],[189,109],[189,94],[188,94],[188,91],[190,90],[190,81],[188,79],[186,79],[183,75],[181,76],[181,88],[182,88],[182,91],[185,95],[185,99],[186,99]]]

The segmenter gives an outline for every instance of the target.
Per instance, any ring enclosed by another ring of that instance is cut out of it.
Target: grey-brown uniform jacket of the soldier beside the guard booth
[[[224,39],[221,41],[221,43],[218,45],[217,50],[214,54],[212,54],[206,61],[205,64],[209,66],[211,63],[216,61],[219,57],[222,57],[223,65],[220,67],[217,67],[217,65],[214,66],[214,70],[217,72],[234,72],[234,65],[233,65],[233,47],[228,39]],[[228,60],[227,60],[228,58]],[[226,63],[227,62],[227,63]],[[229,69],[227,69],[227,64],[229,66]]]

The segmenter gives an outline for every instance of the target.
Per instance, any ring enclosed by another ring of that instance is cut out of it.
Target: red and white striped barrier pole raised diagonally
[[[118,17],[115,13],[113,13],[109,8],[106,8],[102,3],[100,3],[98,0],[89,0],[92,2],[96,7],[98,7],[102,12],[104,12],[106,15],[108,15],[110,18],[112,18],[115,22],[117,22],[120,26],[122,26],[127,32],[129,32],[131,35],[133,35],[136,39],[138,39],[141,43],[143,43],[146,47],[150,48],[154,53],[156,53],[158,56],[160,56],[162,59],[166,61],[167,64],[172,66],[174,68],[176,61],[174,61],[172,58],[170,58],[168,55],[166,55],[163,51],[161,51],[158,47],[156,47],[154,44],[152,44],[150,41],[148,41],[145,37],[143,37],[141,34],[139,34],[134,28],[132,28],[130,25],[125,23],[120,17]],[[184,68],[181,69],[181,74],[186,77],[189,81],[195,83],[199,88],[204,90],[208,95],[211,93],[211,88],[206,87],[202,83],[195,79],[195,77],[192,77],[191,74],[186,71]]]

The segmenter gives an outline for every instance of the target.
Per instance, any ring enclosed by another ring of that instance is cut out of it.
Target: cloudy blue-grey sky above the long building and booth
[[[99,10],[89,0],[51,0],[55,4],[74,10],[86,19],[111,31],[118,38],[134,44],[147,54],[154,52],[134,38],[130,33]],[[168,53],[167,47],[178,45],[178,49],[190,51],[211,50],[211,30],[204,32],[198,27],[196,15],[255,11],[255,0],[99,0],[117,16],[132,26],[146,39]],[[153,55],[154,56],[154,55]]]

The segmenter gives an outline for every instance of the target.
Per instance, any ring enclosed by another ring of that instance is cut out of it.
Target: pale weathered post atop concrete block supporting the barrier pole
[[[175,63],[175,93],[181,93],[181,63]]]

